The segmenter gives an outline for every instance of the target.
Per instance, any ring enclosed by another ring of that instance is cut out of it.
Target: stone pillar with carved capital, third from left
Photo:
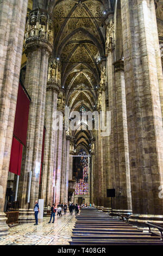
[[[55,156],[55,113],[57,112],[57,100],[60,89],[60,81],[57,77],[58,62],[49,59],[48,80],[45,107],[45,148],[44,148],[44,167],[41,180],[41,198],[45,199],[45,207],[53,203],[53,174]]]

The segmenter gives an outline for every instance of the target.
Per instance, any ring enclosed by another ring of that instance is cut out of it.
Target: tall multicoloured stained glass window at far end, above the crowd
[[[89,161],[88,157],[85,157],[86,152],[82,149],[79,151],[78,161],[82,163],[83,166],[83,178],[82,179],[76,179],[76,188],[75,188],[75,194],[88,194],[89,193],[89,181],[88,181],[88,175],[89,175]]]

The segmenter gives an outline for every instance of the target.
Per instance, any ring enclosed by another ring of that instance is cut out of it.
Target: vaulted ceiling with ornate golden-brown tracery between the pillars
[[[61,86],[71,111],[84,106],[93,112],[96,107],[101,77],[98,63],[105,56],[105,10],[112,10],[112,1],[62,0],[53,9],[53,56],[60,58]],[[77,130],[73,136],[77,147],[90,148],[90,131]]]

